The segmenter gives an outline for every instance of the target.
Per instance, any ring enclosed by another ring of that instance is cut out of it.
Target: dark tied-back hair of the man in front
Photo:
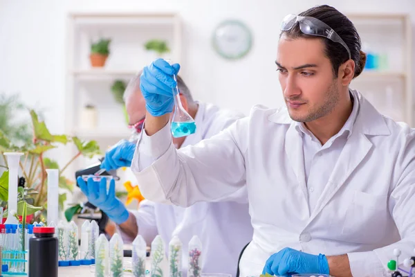
[[[341,12],[335,8],[327,5],[315,6],[299,14],[302,17],[314,17],[323,21],[335,33],[337,33],[349,47],[351,59],[355,62],[355,72],[353,78],[358,77],[365,68],[366,53],[361,50],[361,41],[358,31],[353,23]],[[299,24],[295,24],[291,30],[282,31],[281,35],[296,39],[297,37],[315,37],[302,33],[299,29]],[[280,35],[280,37],[281,37]],[[329,57],[331,65],[333,66],[333,73],[338,77],[339,67],[342,63],[349,60],[349,53],[338,42],[333,42],[331,39],[322,37],[326,45],[326,56]]]

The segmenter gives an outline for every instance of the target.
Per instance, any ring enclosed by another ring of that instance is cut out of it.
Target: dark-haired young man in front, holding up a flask
[[[141,91],[150,109],[131,166],[142,194],[189,206],[248,188],[254,235],[241,276],[387,276],[394,249],[409,258],[415,248],[414,129],[349,89],[365,53],[335,8],[286,17],[276,64],[286,108],[254,107],[181,150],[165,105],[179,66],[147,66]]]

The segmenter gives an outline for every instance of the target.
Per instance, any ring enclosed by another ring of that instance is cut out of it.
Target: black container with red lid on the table
[[[29,240],[29,277],[57,277],[57,238],[53,227],[33,228]]]

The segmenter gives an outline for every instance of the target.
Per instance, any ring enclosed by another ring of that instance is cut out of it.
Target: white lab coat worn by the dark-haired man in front
[[[144,134],[133,158],[142,194],[189,206],[246,186],[254,235],[241,259],[243,277],[261,274],[267,258],[284,247],[348,253],[353,276],[387,276],[395,248],[401,262],[414,255],[415,133],[352,93],[360,103],[353,132],[313,211],[295,123],[286,109],[260,106],[212,139],[178,151],[166,128]],[[156,141],[164,148],[151,148]],[[146,164],[151,152],[158,159]]]

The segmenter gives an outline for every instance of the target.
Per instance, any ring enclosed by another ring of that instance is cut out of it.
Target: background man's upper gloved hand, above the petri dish
[[[105,158],[104,161],[102,161],[100,168],[105,168],[105,170],[109,171],[124,166],[131,166],[135,150],[136,143],[131,143],[125,139],[118,141],[116,145],[113,145],[113,147],[105,153]]]

